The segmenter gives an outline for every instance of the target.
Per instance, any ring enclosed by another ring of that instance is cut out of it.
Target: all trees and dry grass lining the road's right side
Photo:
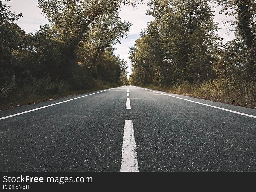
[[[221,6],[223,43],[212,6]],[[254,0],[150,0],[155,19],[130,48],[129,82],[172,93],[256,108],[256,3]]]

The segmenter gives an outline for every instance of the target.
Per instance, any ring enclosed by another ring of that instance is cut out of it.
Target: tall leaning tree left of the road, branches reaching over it
[[[38,0],[38,7],[53,23],[57,39],[66,55],[65,69],[72,77],[77,63],[75,51],[81,41],[88,37],[93,22],[101,16],[115,14],[122,5],[135,6],[128,0]]]

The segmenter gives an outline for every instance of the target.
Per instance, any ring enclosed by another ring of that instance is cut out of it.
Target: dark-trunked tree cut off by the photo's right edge
[[[233,21],[223,21],[228,25],[228,32],[232,26],[237,28],[237,39],[243,41],[247,47],[247,61],[245,62],[247,77],[256,81],[256,2],[255,0],[218,0],[222,6],[221,13],[234,16]]]

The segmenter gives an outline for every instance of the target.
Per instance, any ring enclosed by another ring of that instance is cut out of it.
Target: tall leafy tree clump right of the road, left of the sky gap
[[[139,82],[169,85],[214,78],[219,38],[210,2],[151,0],[148,5],[147,14],[155,20],[129,52],[132,67],[143,73]]]

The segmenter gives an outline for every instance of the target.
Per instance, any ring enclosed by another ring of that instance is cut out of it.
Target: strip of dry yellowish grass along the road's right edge
[[[253,81],[218,79],[202,84],[184,82],[169,87],[154,85],[144,87],[256,109],[256,83]]]

